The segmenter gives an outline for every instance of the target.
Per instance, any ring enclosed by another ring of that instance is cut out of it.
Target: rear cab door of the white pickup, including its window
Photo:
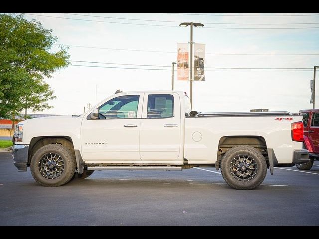
[[[177,160],[180,151],[180,130],[178,94],[145,93],[140,129],[142,161],[166,163]]]

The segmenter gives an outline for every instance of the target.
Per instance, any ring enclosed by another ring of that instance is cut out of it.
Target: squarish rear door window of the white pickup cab
[[[174,97],[156,94],[148,96],[147,118],[167,118],[174,116]]]

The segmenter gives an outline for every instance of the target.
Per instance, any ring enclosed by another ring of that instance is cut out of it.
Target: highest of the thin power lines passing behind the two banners
[[[59,45],[59,44],[53,44]],[[123,48],[107,48],[107,47],[94,47],[94,46],[77,46],[77,45],[65,45],[69,47],[80,47],[80,48],[92,48],[92,49],[103,49],[103,50],[118,50],[118,51],[140,51],[140,52],[158,52],[158,53],[174,53],[176,51],[151,51],[151,50],[138,50],[138,49],[123,49]],[[244,56],[317,56],[318,54],[246,54],[246,53],[206,53],[207,55],[244,55]]]

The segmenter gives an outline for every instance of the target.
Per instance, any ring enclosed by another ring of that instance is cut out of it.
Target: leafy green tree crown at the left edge
[[[51,48],[57,37],[23,14],[0,14],[0,117],[14,118],[23,109],[52,108],[53,90],[43,81],[69,62],[67,48]]]

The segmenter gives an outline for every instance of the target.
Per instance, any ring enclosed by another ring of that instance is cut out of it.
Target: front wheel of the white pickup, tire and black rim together
[[[61,186],[71,180],[75,171],[72,152],[61,144],[39,148],[31,160],[31,173],[42,186]]]

